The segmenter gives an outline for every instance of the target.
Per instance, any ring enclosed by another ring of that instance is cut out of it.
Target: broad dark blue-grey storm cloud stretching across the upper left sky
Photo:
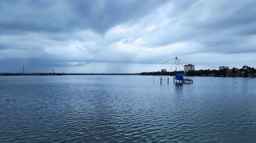
[[[166,1],[3,1],[0,32],[60,32],[89,28],[104,33],[136,20]]]

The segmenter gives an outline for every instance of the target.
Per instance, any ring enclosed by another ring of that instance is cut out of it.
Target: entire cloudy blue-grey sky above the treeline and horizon
[[[256,1],[3,0],[0,72],[256,67]]]

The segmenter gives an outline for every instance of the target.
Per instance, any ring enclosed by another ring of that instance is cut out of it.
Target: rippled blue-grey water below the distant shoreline
[[[256,78],[191,78],[0,76],[0,142],[256,142]]]

